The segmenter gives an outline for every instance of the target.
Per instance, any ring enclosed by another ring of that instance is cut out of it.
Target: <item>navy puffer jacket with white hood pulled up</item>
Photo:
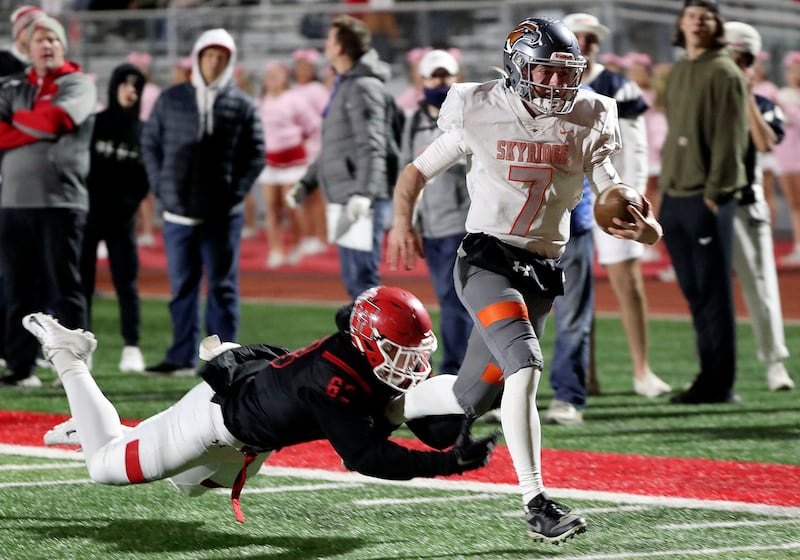
[[[222,74],[206,84],[200,53],[230,52]],[[164,219],[184,225],[244,211],[244,197],[264,167],[261,118],[253,99],[233,83],[236,46],[211,29],[192,49],[192,81],[167,88],[144,125],[142,155]]]

